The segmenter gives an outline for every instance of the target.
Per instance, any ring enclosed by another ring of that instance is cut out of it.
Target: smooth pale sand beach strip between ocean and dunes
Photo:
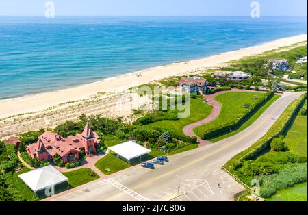
[[[134,71],[114,77],[108,77],[100,81],[84,84],[82,86],[75,86],[73,88],[64,88],[51,92],[41,92],[38,94],[28,94],[22,97],[1,99],[0,118],[25,114],[28,112],[38,112],[51,106],[60,103],[67,103],[69,101],[89,99],[91,96],[99,92],[122,92],[133,86],[147,84],[151,81],[164,79],[166,77],[184,75],[205,68],[219,67],[231,60],[238,60],[246,56],[256,55],[258,53],[263,53],[264,51],[270,51],[297,42],[303,42],[305,40],[307,40],[307,34],[301,34],[197,60],[173,62],[171,64],[146,68],[142,71]],[[137,77],[136,74],[140,74],[141,76]]]

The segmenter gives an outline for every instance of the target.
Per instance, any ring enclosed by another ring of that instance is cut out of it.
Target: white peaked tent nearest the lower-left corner
[[[56,170],[53,166],[38,168],[18,175],[18,177],[20,177],[34,192],[38,192],[45,188],[51,188],[57,184],[68,181],[68,178],[62,175],[62,173]]]

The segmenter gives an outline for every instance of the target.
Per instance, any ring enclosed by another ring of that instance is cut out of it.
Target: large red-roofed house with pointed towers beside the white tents
[[[68,136],[68,138],[45,131],[38,138],[38,142],[30,144],[26,150],[32,158],[38,157],[40,161],[52,161],[53,156],[57,154],[66,164],[68,162],[77,162],[81,150],[84,150],[87,156],[97,153],[95,144],[99,144],[99,136],[92,131],[89,123],[87,123],[82,134]]]

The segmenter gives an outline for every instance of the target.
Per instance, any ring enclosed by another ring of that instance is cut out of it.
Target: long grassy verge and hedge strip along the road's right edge
[[[253,160],[260,155],[262,151],[269,147],[273,138],[277,138],[279,135],[285,133],[287,127],[290,126],[306,99],[307,94],[303,94],[299,99],[293,101],[260,140],[245,151],[242,151],[242,153],[235,155],[224,167],[233,172],[233,170],[241,168],[246,160]]]

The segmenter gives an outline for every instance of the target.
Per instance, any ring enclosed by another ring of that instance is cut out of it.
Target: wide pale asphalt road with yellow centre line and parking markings
[[[253,125],[210,144],[169,157],[170,162],[148,170],[136,166],[99,179],[50,201],[232,201],[244,190],[222,166],[259,140],[300,93],[284,94]],[[182,193],[177,195],[177,190]]]

